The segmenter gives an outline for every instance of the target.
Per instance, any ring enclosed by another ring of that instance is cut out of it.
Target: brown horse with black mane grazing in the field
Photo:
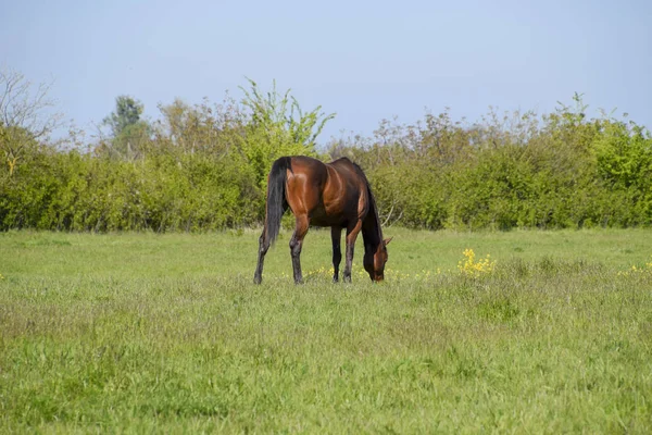
[[[300,254],[303,237],[310,225],[330,226],[334,282],[339,279],[342,228],[347,228],[344,281],[351,281],[353,248],[361,231],[364,240],[364,269],[372,281],[383,281],[387,262],[386,247],[391,238],[383,239],[378,210],[366,176],[359,165],[347,158],[323,163],[300,156],[281,157],[269,171],[265,226],[260,238],[258,266],[253,276],[255,284],[263,279],[265,253],[278,236],[280,219],[288,208],[297,221],[290,239],[296,284],[303,282]]]

